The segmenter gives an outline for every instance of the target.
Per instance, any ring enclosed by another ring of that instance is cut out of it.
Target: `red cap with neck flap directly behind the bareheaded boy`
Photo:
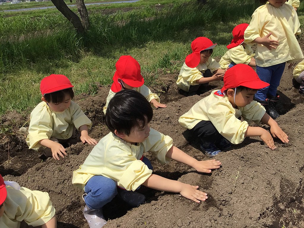
[[[130,55],[123,55],[115,64],[116,71],[113,76],[113,84],[111,90],[117,93],[121,90],[122,86],[118,82],[120,78],[124,83],[132,87],[140,87],[143,85],[143,76],[140,74],[139,63]]]

